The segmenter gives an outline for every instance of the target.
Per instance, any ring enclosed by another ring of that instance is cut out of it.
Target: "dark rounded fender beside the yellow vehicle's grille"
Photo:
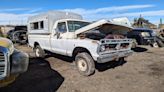
[[[29,65],[28,54],[15,50],[11,58],[11,74],[19,74],[27,71]]]

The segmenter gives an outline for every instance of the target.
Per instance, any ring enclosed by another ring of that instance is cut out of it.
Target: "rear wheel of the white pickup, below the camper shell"
[[[39,45],[34,48],[34,52],[36,57],[45,57],[45,51]]]

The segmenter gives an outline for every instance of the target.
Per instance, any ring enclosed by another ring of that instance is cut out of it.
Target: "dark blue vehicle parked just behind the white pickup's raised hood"
[[[133,29],[127,33],[127,38],[135,39],[138,45],[157,45],[156,33],[151,29]]]

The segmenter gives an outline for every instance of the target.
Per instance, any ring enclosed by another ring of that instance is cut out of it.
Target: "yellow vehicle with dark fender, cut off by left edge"
[[[14,48],[13,43],[0,37],[0,87],[12,83],[28,68],[29,57]]]

